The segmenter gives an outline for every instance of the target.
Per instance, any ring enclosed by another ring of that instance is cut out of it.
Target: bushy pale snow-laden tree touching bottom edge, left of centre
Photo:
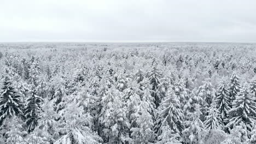
[[[91,117],[89,113],[84,113],[83,107],[71,103],[60,113],[62,115],[62,128],[60,128],[62,135],[54,144],[94,144],[101,142],[101,138],[91,131]]]

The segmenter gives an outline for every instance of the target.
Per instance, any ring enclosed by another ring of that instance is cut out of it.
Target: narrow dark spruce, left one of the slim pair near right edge
[[[220,113],[222,120],[227,118],[228,111],[230,110],[230,97],[226,84],[222,82],[218,88],[216,98],[214,99],[217,110]]]

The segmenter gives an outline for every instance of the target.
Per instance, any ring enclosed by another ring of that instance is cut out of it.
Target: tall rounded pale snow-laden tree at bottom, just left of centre
[[[120,91],[112,88],[102,98],[104,106],[102,107],[101,122],[105,126],[103,132],[109,143],[125,142],[128,137],[127,129],[130,128],[130,123],[120,95]]]

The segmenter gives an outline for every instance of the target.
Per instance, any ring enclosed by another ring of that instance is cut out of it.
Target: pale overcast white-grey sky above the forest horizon
[[[0,0],[0,41],[256,43],[256,1]]]

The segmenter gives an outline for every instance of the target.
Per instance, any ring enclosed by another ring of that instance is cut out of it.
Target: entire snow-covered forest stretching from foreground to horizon
[[[256,45],[0,44],[0,143],[256,143]]]

